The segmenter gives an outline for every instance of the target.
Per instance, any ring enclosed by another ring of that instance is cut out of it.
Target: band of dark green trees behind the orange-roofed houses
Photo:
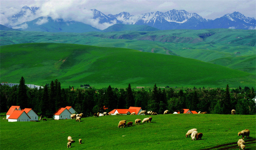
[[[12,105],[22,109],[32,108],[38,115],[49,118],[60,107],[72,106],[77,113],[93,116],[97,112],[109,112],[113,109],[128,109],[130,106],[152,110],[158,114],[163,111],[180,111],[184,108],[195,111],[207,111],[209,114],[231,114],[235,109],[237,114],[256,114],[253,88],[158,88],[156,84],[149,90],[121,88],[62,88],[56,79],[44,88],[31,89],[25,85],[25,79],[20,79],[17,86],[0,86],[0,111],[7,112]],[[108,109],[103,109],[103,107]]]

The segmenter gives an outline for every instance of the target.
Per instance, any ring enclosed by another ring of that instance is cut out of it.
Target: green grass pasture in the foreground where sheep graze
[[[1,150],[67,149],[67,137],[72,149],[87,150],[219,150],[238,149],[238,132],[249,129],[244,139],[246,150],[256,149],[255,115],[168,114],[152,116],[151,123],[118,128],[120,120],[134,122],[149,116],[118,115],[46,122],[8,122],[0,119]],[[203,133],[202,140],[186,138],[188,130]],[[78,139],[82,139],[79,145]]]

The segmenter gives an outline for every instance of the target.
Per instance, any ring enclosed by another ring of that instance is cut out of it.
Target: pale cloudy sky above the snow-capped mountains
[[[97,9],[104,14],[129,12],[137,15],[148,12],[166,12],[172,9],[197,13],[205,19],[216,19],[225,14],[238,11],[246,17],[256,17],[255,0],[0,0],[0,7],[17,7],[24,5],[48,7],[52,12],[67,8],[75,11],[77,8]]]

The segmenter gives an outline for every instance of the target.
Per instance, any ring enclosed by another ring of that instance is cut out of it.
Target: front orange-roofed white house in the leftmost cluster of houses
[[[24,110],[14,110],[8,118],[8,122],[30,121],[30,119]]]

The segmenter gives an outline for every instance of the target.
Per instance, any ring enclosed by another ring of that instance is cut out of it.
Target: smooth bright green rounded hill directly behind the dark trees
[[[1,82],[62,87],[255,86],[255,76],[195,59],[138,50],[74,44],[32,43],[1,46]]]

